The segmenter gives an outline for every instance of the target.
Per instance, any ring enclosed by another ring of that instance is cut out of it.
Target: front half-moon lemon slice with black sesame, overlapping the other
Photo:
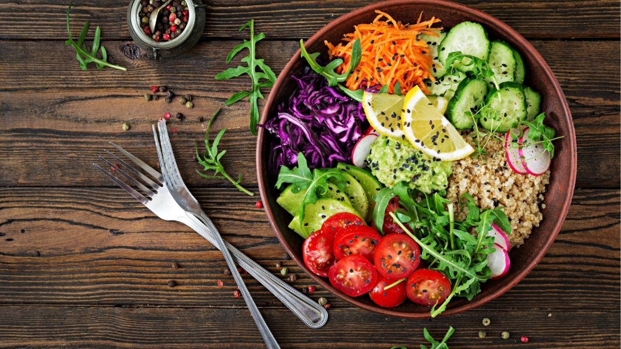
[[[404,99],[403,131],[412,146],[442,161],[465,158],[474,148],[415,86]]]

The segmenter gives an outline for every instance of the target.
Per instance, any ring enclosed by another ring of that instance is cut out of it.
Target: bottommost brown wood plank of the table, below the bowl
[[[329,310],[321,329],[309,329],[280,309],[264,309],[263,316],[281,348],[391,348],[428,345],[423,327],[458,348],[617,348],[619,314],[610,311],[476,310],[430,321],[397,319],[364,310]],[[2,347],[97,348],[263,348],[258,330],[246,309],[177,307],[0,307]],[[549,316],[550,314],[551,316]],[[484,327],[481,319],[491,325]],[[487,336],[478,338],[479,331]],[[510,338],[501,338],[501,332]],[[364,335],[361,335],[361,333]],[[311,339],[312,338],[312,339]]]

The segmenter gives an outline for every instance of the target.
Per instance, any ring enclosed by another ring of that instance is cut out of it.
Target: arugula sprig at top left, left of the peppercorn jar
[[[71,12],[71,5],[73,5],[73,1],[70,2],[69,8],[67,9],[67,32],[69,34],[69,39],[65,41],[65,45],[71,45],[76,50],[76,57],[79,61],[79,66],[82,70],[86,70],[88,68],[88,63],[94,62],[97,65],[97,69],[102,70],[104,66],[109,66],[110,68],[116,68],[119,70],[127,70],[126,68],[118,65],[113,65],[107,62],[107,52],[106,48],[101,45],[101,29],[99,29],[99,25],[97,25],[97,29],[95,29],[95,37],[93,39],[93,47],[91,47],[91,52],[88,52],[88,48],[86,48],[86,44],[84,43],[84,39],[86,39],[86,34],[88,34],[88,20],[84,23],[84,27],[82,27],[82,31],[79,34],[78,42],[73,41],[71,39],[71,28],[69,25],[69,13]],[[97,58],[97,52],[101,50],[101,59]]]

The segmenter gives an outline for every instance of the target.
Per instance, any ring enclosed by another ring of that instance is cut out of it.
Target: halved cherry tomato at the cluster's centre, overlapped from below
[[[334,255],[343,259],[348,255],[362,255],[373,263],[373,251],[381,235],[368,225],[348,225],[337,233],[334,240]]]

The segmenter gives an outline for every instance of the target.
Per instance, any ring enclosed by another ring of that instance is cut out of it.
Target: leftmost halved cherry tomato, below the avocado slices
[[[332,248],[334,246],[334,234],[323,230],[317,230],[304,240],[302,245],[302,258],[304,264],[319,276],[328,276],[330,267],[337,262]]]

